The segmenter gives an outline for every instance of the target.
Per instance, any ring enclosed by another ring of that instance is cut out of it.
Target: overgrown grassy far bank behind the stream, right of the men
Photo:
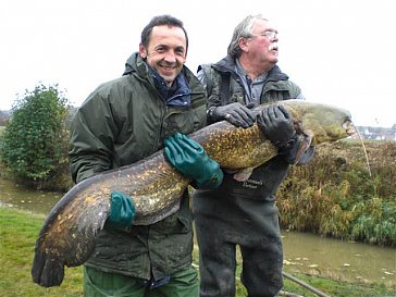
[[[343,140],[317,147],[277,195],[285,230],[396,246],[396,141]]]

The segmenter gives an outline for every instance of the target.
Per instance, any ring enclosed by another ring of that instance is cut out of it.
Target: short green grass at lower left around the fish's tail
[[[0,296],[83,296],[82,268],[65,270],[59,287],[44,288],[32,281],[34,246],[44,216],[0,207]]]

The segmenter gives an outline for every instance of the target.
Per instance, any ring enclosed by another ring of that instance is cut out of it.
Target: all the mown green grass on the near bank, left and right
[[[42,215],[0,207],[1,297],[82,296],[83,274],[81,267],[73,269],[66,268],[64,282],[59,287],[42,288],[32,281],[30,268],[34,256],[34,245],[44,219]],[[195,250],[195,259],[197,259],[197,249]],[[395,288],[385,288],[382,285],[361,286],[304,274],[294,274],[294,276],[330,296],[396,296]],[[238,297],[246,296],[245,289],[240,283],[238,283],[237,289]],[[317,296],[288,280],[285,280],[284,290],[294,292],[307,297]]]

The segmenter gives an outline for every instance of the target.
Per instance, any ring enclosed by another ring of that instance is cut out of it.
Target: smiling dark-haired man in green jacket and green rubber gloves
[[[184,66],[187,49],[177,18],[156,16],[144,28],[123,76],[100,85],[73,120],[70,160],[76,183],[164,146],[171,164],[196,187],[220,185],[219,164],[186,136],[206,124],[207,111],[203,88]],[[84,267],[85,296],[198,296],[188,193],[176,213],[152,225],[133,224],[133,197],[113,191],[109,199],[110,215]]]

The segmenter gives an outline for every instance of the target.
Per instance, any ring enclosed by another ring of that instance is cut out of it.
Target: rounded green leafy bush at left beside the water
[[[41,187],[67,171],[66,103],[58,85],[38,85],[16,98],[0,141],[0,160],[11,177]]]

